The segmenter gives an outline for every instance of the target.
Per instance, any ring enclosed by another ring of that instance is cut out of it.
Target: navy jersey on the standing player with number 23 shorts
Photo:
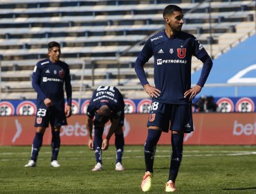
[[[67,103],[71,106],[72,87],[68,64],[51,62],[48,58],[37,62],[32,75],[32,85],[37,91],[37,106],[44,106],[44,100],[50,98],[57,109],[64,109],[64,84]]]

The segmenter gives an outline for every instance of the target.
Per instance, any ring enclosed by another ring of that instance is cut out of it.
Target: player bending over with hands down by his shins
[[[102,150],[109,147],[109,139],[115,133],[116,170],[124,170],[122,166],[122,153],[125,146],[122,126],[125,119],[125,103],[120,91],[113,86],[100,86],[95,89],[87,108],[86,126],[89,127],[89,149],[94,150],[96,165],[92,171],[102,170]],[[111,121],[109,132],[102,139],[104,125]],[[94,125],[94,139],[92,137]]]

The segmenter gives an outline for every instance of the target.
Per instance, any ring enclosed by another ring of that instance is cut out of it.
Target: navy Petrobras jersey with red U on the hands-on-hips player
[[[154,84],[161,91],[154,101],[191,104],[188,98],[184,98],[184,93],[191,87],[192,55],[199,60],[208,55],[194,35],[181,31],[169,38],[161,32],[147,39],[135,66],[143,66],[154,56]],[[142,85],[148,84],[145,77],[138,75],[138,78]]]

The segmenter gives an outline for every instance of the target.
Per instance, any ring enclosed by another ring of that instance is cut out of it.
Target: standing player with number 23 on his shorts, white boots
[[[72,87],[68,64],[60,61],[60,44],[48,43],[48,58],[37,62],[32,86],[37,92],[37,114],[35,116],[36,133],[33,140],[30,161],[25,167],[37,166],[37,156],[42,146],[44,132],[49,123],[52,132],[51,166],[59,167],[57,157],[60,150],[60,128],[66,125],[66,118],[71,116]],[[64,107],[64,85],[67,106]]]

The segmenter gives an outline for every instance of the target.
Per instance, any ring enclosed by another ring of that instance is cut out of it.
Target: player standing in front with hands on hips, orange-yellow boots
[[[135,63],[137,76],[145,91],[152,97],[147,122],[148,133],[144,146],[145,175],[141,188],[150,191],[156,144],[162,132],[172,131],[172,157],[165,191],[177,191],[175,180],[183,156],[184,133],[193,131],[192,99],[199,94],[212,68],[212,60],[202,44],[181,31],[183,12],[169,5],[163,10],[165,31],[147,39]],[[144,64],[154,56],[154,85],[147,81]],[[201,77],[191,88],[191,58],[203,62]]]

